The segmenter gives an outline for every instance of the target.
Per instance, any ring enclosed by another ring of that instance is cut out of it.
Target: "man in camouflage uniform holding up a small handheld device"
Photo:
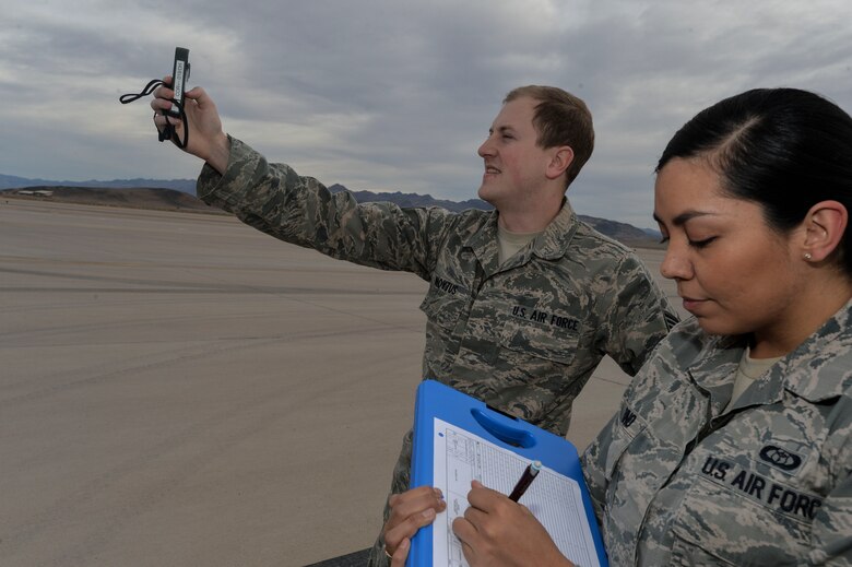
[[[170,94],[161,87],[152,107],[168,108]],[[588,108],[565,91],[507,96],[478,152],[480,197],[496,210],[462,213],[332,194],[224,134],[203,90],[187,97],[188,151],[208,162],[202,200],[284,241],[429,282],[424,378],[565,435],[601,358],[634,375],[676,321],[641,261],[580,222],[565,198],[594,140]],[[392,493],[409,488],[411,437]],[[383,563],[380,538],[371,564]]]

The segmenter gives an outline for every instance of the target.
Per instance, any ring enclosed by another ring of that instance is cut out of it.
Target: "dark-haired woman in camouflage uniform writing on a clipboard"
[[[583,456],[613,565],[852,565],[852,118],[755,90],[687,122],[656,168],[663,275],[694,317]],[[471,565],[571,565],[523,506],[474,484]],[[441,511],[386,525],[394,565]]]

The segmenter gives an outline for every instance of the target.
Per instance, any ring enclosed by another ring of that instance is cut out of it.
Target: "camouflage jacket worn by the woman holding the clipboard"
[[[612,565],[852,565],[852,302],[725,411],[744,349],[679,324],[589,446]]]

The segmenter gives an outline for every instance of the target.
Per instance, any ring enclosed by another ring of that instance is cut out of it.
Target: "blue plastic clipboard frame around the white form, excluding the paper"
[[[592,533],[597,559],[607,567],[606,552],[597,529],[580,459],[567,439],[510,416],[484,402],[435,380],[424,380],[417,388],[414,406],[414,446],[411,487],[434,485],[435,418],[486,439],[494,445],[573,479],[580,485],[583,509]],[[422,528],[412,539],[409,567],[433,565],[433,525]]]

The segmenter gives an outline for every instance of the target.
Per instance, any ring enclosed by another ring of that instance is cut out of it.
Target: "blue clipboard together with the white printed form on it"
[[[571,562],[606,567],[573,445],[448,386],[422,382],[415,405],[412,487],[440,488],[447,510],[414,536],[407,565],[466,567],[451,527],[468,508],[471,481],[509,494],[533,460],[541,461],[543,470],[520,504],[542,522]]]

